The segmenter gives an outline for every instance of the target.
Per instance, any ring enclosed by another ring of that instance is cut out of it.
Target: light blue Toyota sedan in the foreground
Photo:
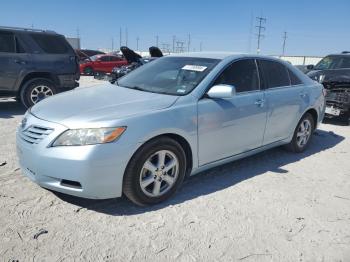
[[[17,151],[44,188],[150,205],[188,175],[280,145],[304,151],[324,104],[322,85],[279,59],[173,55],[33,106]]]

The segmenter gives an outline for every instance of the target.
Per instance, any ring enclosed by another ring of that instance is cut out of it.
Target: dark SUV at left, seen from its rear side
[[[79,84],[78,57],[53,31],[0,26],[0,96],[24,106]]]

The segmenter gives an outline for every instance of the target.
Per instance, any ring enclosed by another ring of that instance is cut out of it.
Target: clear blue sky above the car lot
[[[76,37],[83,48],[125,45],[146,51],[173,36],[191,51],[256,53],[257,19],[266,18],[261,53],[323,56],[350,51],[349,0],[11,0],[3,1],[0,26],[51,29]],[[112,41],[113,39],[113,41]]]

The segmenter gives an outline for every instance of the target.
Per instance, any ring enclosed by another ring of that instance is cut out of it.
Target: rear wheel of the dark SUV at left
[[[20,99],[22,104],[29,108],[46,97],[57,94],[55,84],[46,78],[34,78],[26,82],[21,89]]]

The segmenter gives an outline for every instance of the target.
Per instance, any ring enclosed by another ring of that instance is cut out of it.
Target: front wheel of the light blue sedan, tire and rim
[[[164,161],[159,161],[162,155]],[[154,205],[176,192],[185,173],[186,156],[181,145],[160,137],[144,144],[131,158],[124,174],[123,192],[137,205]]]

